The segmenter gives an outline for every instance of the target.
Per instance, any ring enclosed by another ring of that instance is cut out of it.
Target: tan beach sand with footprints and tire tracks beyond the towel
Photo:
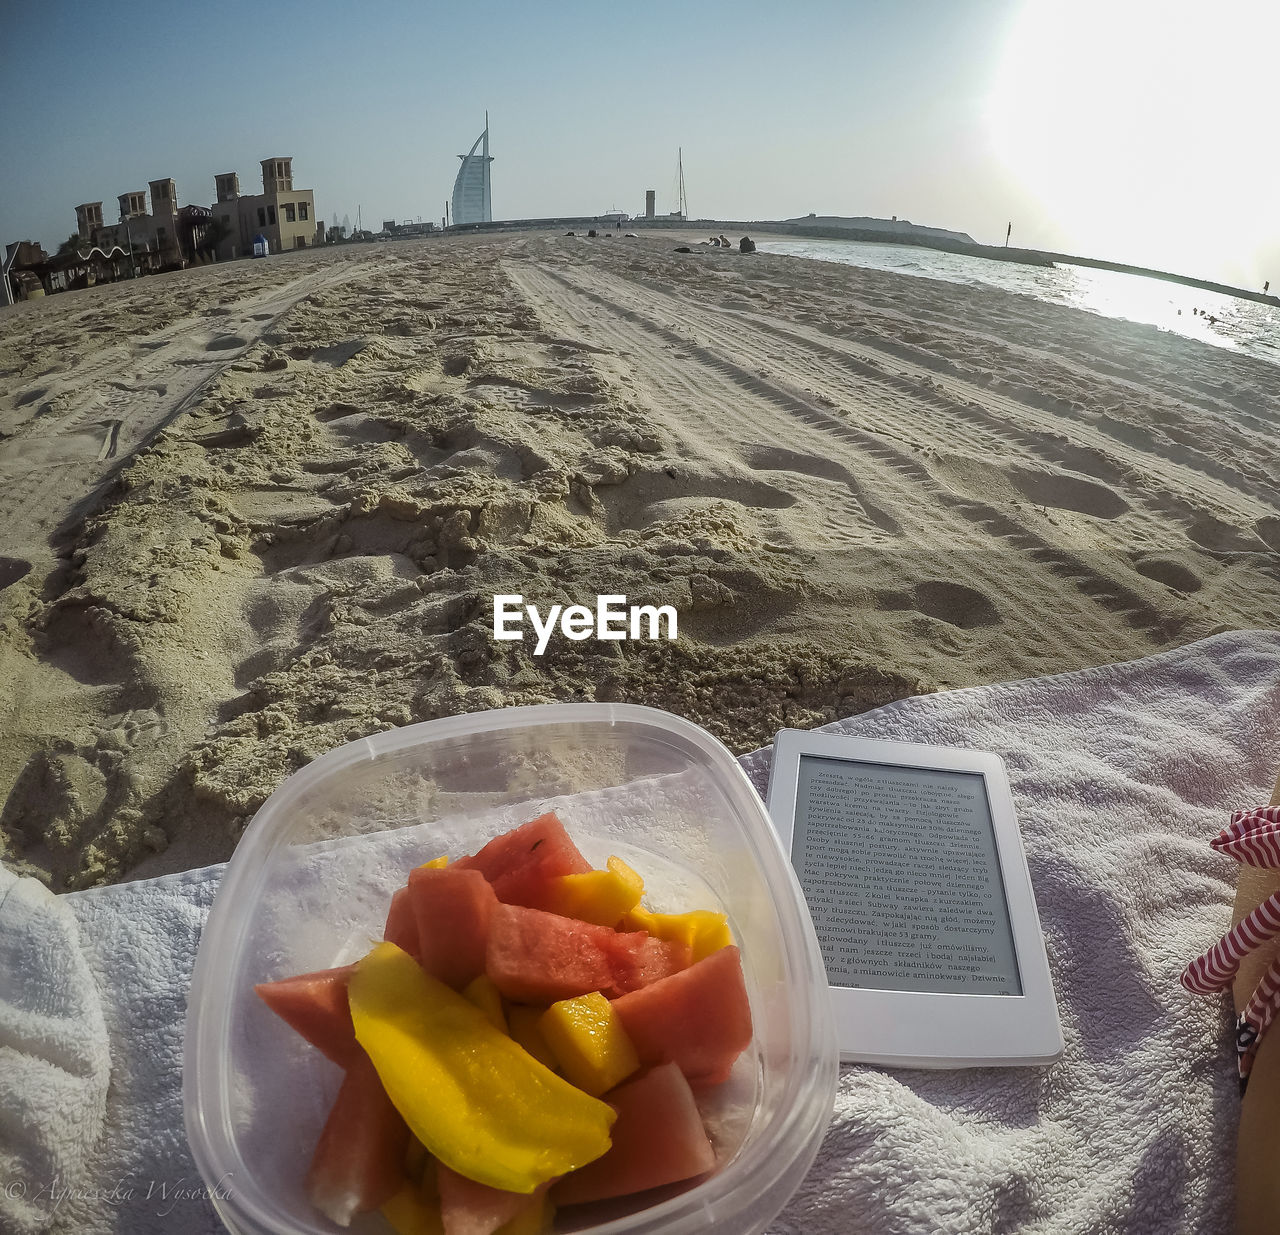
[[[221,860],[316,755],[458,712],[644,703],[745,751],[1280,625],[1280,367],[676,243],[369,244],[0,312],[4,861]],[[680,637],[535,657],[495,593],[672,604]]]

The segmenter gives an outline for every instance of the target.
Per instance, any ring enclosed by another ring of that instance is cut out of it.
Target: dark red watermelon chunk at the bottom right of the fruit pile
[[[572,1206],[677,1184],[716,1167],[692,1090],[675,1064],[659,1064],[604,1096],[618,1112],[609,1151],[566,1175],[552,1197]]]

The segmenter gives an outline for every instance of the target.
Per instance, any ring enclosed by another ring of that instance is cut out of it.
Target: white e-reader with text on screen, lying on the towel
[[[998,755],[783,729],[768,808],[822,947],[842,1060],[995,1067],[1062,1053]]]

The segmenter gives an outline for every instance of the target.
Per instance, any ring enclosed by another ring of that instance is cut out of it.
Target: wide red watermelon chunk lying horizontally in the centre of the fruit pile
[[[517,1003],[554,1003],[591,991],[609,998],[637,984],[644,930],[562,918],[541,909],[498,905],[489,920],[485,971]]]

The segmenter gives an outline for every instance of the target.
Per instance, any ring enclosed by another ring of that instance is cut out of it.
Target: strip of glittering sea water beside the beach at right
[[[1103,317],[1142,321],[1213,347],[1280,365],[1280,308],[1148,275],[1092,266],[1028,266],[914,244],[836,239],[758,239],[763,253],[836,261],[872,270],[969,283],[1034,296]],[[1201,310],[1197,314],[1194,310]],[[1216,321],[1210,321],[1212,316]]]

